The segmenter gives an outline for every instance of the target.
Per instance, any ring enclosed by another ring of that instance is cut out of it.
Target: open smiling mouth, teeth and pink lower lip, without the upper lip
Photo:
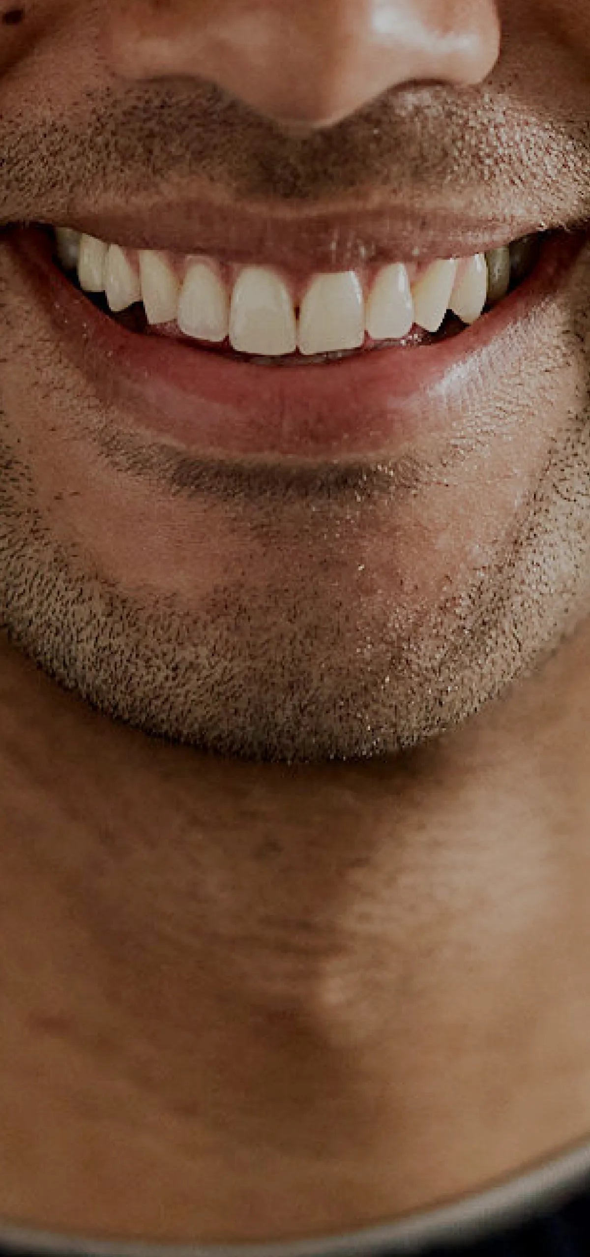
[[[120,245],[15,224],[4,246],[109,429],[273,463],[390,458],[448,439],[469,391],[517,376],[536,352],[540,319],[557,333],[589,244],[580,226],[503,245],[496,226],[493,248],[470,256],[355,269],[335,258],[330,270],[309,251],[303,273],[131,246],[130,230]]]

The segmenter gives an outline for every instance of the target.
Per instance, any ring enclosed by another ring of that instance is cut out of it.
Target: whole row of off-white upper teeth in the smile
[[[57,230],[64,266],[81,287],[104,293],[113,312],[143,302],[153,326],[176,324],[185,336],[263,357],[298,349],[312,356],[399,339],[416,324],[437,332],[450,309],[473,323],[506,295],[508,248],[470,258],[438,259],[426,266],[395,263],[372,273],[313,275],[303,288],[269,266],[225,266],[211,258],[174,258],[122,249],[68,228]]]

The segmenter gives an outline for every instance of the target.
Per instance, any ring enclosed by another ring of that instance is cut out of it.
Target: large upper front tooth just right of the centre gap
[[[316,275],[301,303],[299,349],[304,354],[359,349],[365,342],[365,300],[359,275]]]

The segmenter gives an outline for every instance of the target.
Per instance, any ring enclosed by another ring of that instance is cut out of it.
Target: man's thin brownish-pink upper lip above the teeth
[[[223,260],[267,263],[298,270],[342,270],[364,263],[468,256],[556,228],[523,217],[469,217],[428,206],[371,209],[215,204],[205,197],[69,207],[38,221],[69,226],[130,249],[203,253]],[[570,230],[584,228],[571,224]]]

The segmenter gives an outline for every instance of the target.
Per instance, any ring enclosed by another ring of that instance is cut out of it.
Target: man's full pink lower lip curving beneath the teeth
[[[566,285],[586,239],[548,236],[533,273],[458,336],[273,367],[128,332],[65,278],[44,231],[5,235],[64,349],[125,426],[199,455],[313,460],[386,455],[447,430],[474,386],[535,352],[536,316]]]

